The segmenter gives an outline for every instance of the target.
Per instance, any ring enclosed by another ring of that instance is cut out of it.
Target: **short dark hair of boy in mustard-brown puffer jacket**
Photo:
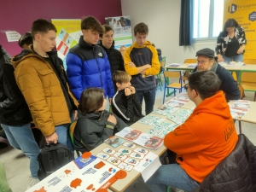
[[[55,25],[53,25],[49,20],[34,20],[31,27],[32,38],[35,39],[35,36],[38,32],[47,33],[50,30],[57,32]]]

